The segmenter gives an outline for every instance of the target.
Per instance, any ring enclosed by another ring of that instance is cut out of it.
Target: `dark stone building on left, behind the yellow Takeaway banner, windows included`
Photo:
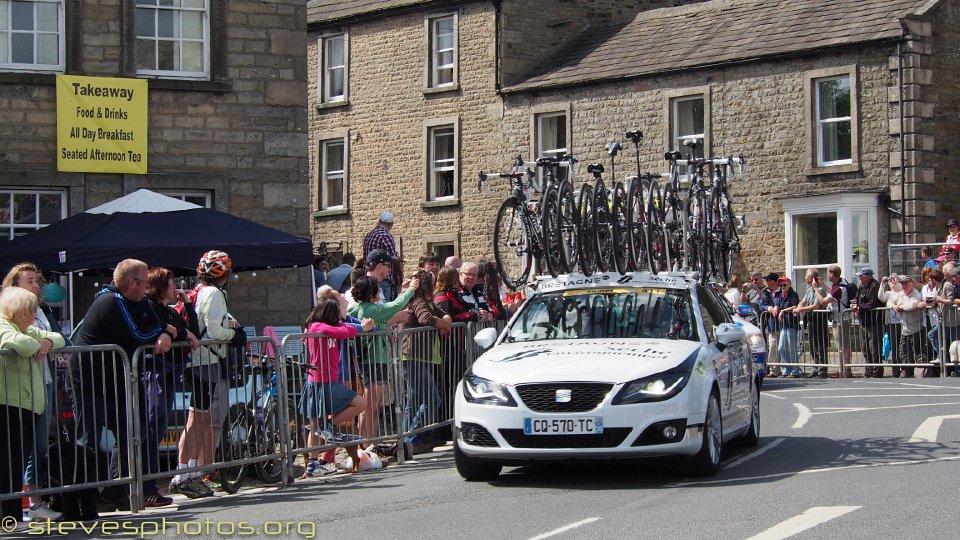
[[[2,0],[0,15],[4,238],[140,188],[307,236],[304,0]],[[59,74],[148,81],[147,174],[58,171]],[[309,283],[305,269],[242,273],[232,311],[296,324]]]

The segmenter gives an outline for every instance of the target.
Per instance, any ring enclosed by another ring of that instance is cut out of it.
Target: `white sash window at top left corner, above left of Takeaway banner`
[[[0,68],[63,71],[62,0],[0,0]]]

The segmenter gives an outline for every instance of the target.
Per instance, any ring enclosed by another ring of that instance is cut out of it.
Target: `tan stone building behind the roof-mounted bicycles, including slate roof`
[[[478,194],[477,171],[565,151],[583,180],[628,129],[644,170],[689,137],[747,157],[741,272],[883,271],[958,210],[953,2],[336,4],[308,8],[315,238],[355,246],[389,208],[407,260],[489,256],[507,191]]]

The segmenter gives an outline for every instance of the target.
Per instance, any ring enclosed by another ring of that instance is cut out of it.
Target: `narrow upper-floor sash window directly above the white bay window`
[[[816,81],[817,165],[852,163],[850,77]]]

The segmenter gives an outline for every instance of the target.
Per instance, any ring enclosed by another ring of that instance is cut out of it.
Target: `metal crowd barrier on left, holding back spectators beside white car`
[[[340,369],[339,383],[361,390],[367,410],[345,440],[319,441],[322,444],[307,442],[310,419],[302,401],[309,340],[328,339],[325,336],[291,334],[281,344],[269,337],[251,337],[246,354],[217,364],[219,381],[213,392],[194,377],[194,370],[184,369],[187,362],[197,364],[200,356],[200,350],[191,351],[187,343],[175,343],[163,355],[156,355],[152,346],[140,347],[132,362],[116,345],[55,351],[71,360],[54,364],[51,370],[55,399],[48,404],[52,418],[46,447],[0,434],[6,441],[0,446],[8,455],[17,451],[18,442],[24,459],[46,450],[46,467],[41,460],[42,473],[29,491],[0,490],[6,491],[0,500],[70,492],[95,497],[93,490],[104,490],[104,495],[113,490],[111,498],[128,497],[131,510],[137,512],[156,482],[174,474],[211,473],[223,483],[225,475],[248,467],[261,479],[266,475],[286,483],[293,477],[295,456],[305,452],[377,443],[398,443],[402,449],[399,443],[405,439],[416,441],[426,435],[444,444],[451,437],[457,384],[482,353],[473,336],[482,328],[502,330],[504,325],[504,321],[457,323],[447,335],[422,328],[370,332],[341,343],[349,351],[349,362]],[[292,346],[302,340],[308,346]],[[213,340],[200,344],[208,350],[227,345]],[[286,354],[250,354],[251,348]],[[0,350],[0,357],[11,354]],[[228,369],[231,362],[240,364]],[[329,387],[324,385],[324,390]],[[191,404],[207,409],[209,424],[197,420]],[[349,420],[334,430],[351,431]],[[203,452],[202,457],[196,466],[176,468],[184,446],[199,448],[194,453]],[[401,462],[408,457],[398,452]]]

